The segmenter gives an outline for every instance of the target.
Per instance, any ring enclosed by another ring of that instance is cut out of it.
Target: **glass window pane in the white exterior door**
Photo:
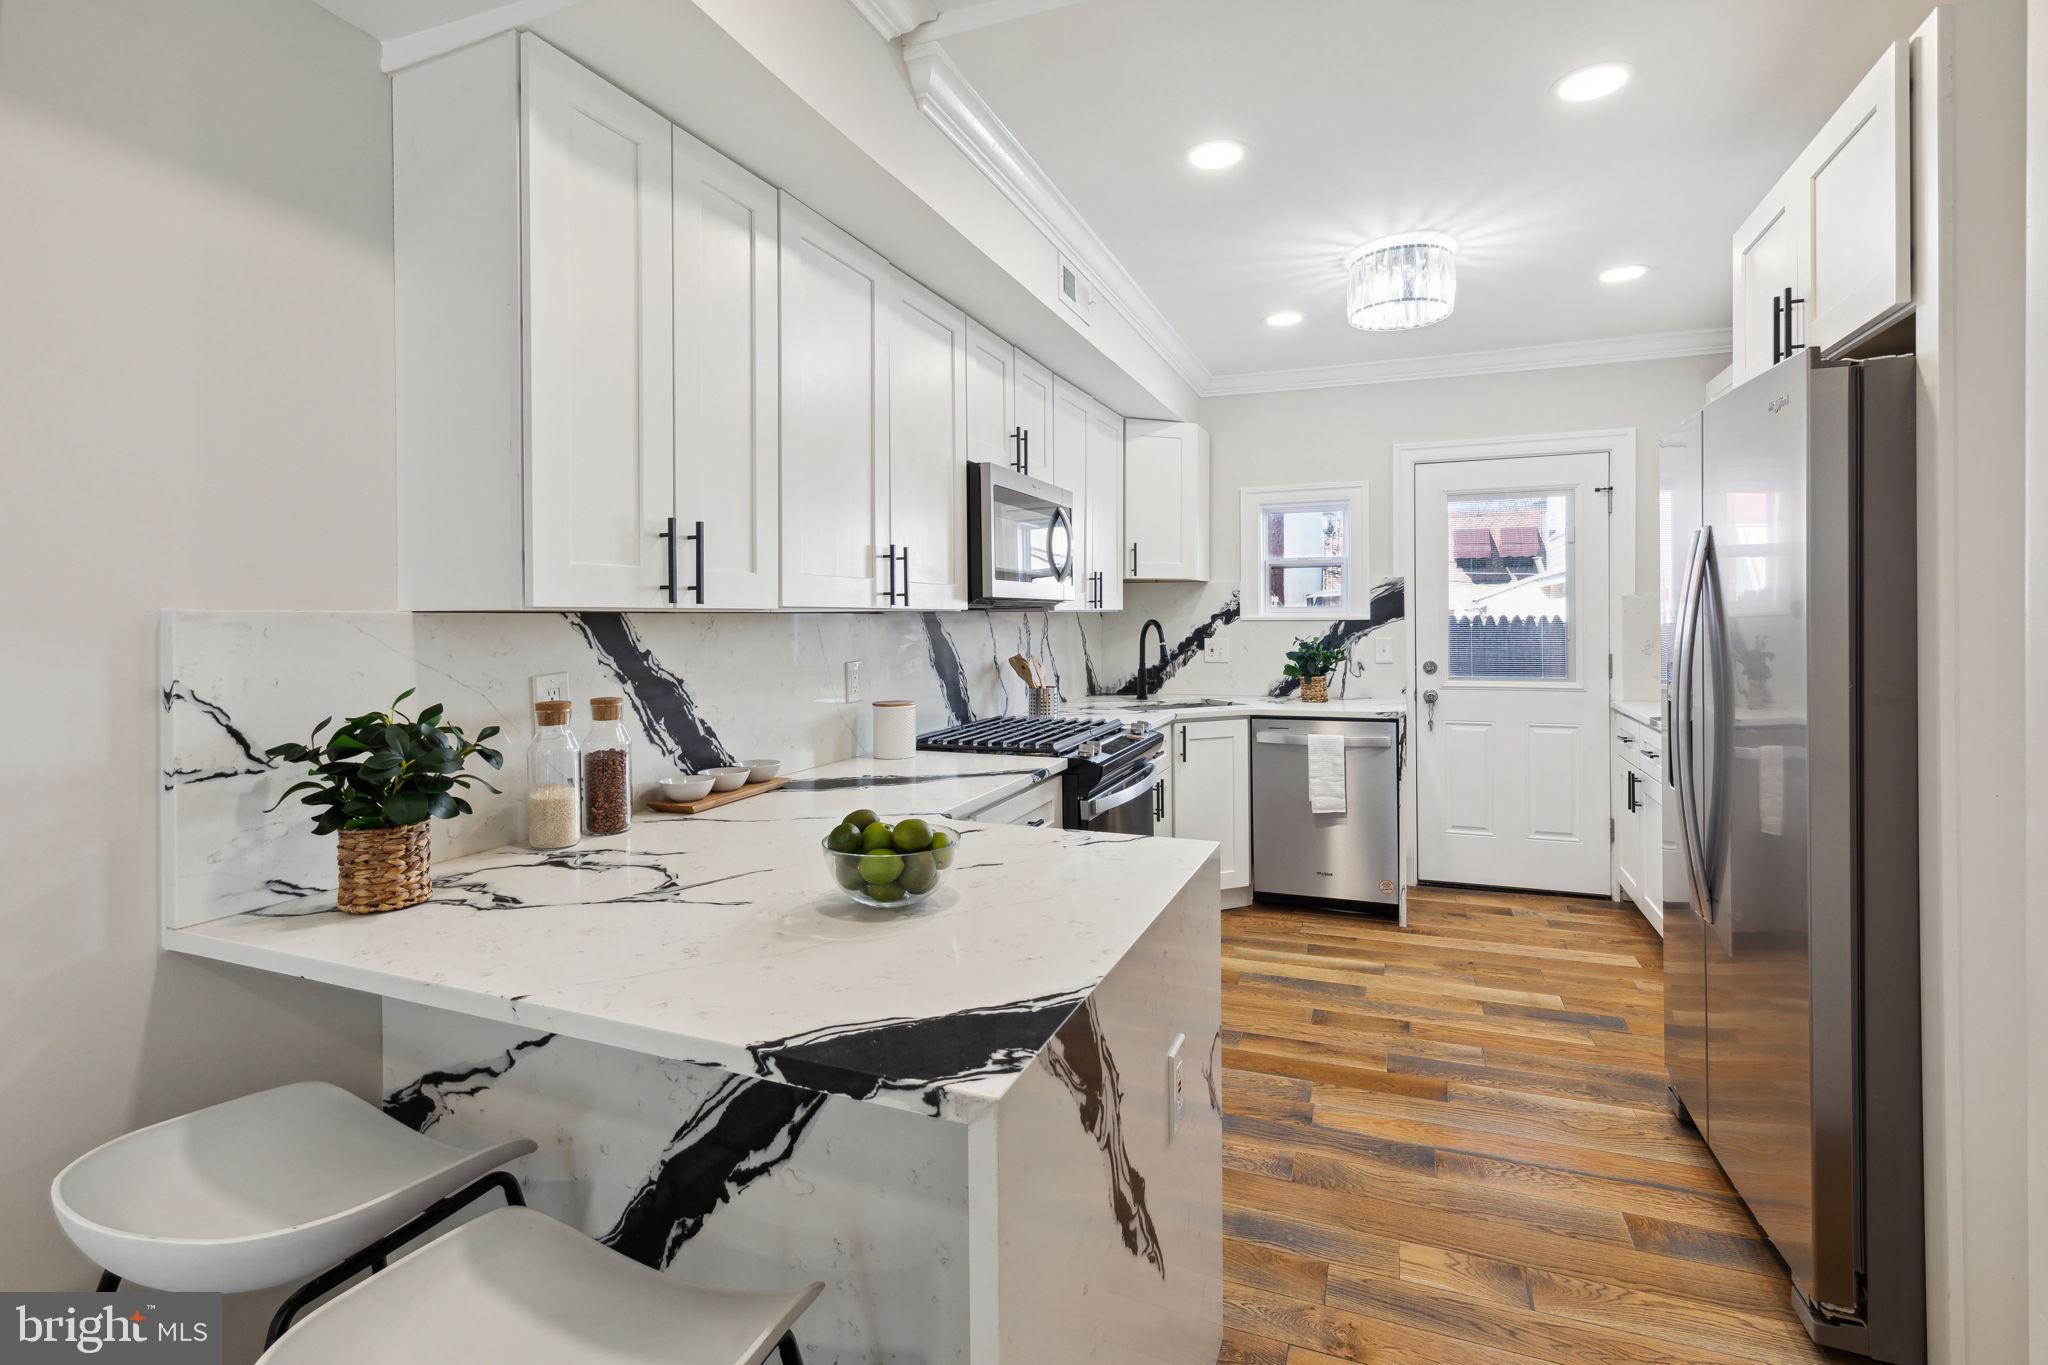
[[[1571,493],[1448,499],[1452,677],[1571,677]]]

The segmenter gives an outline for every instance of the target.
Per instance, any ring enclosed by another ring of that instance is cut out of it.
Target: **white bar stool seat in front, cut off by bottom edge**
[[[791,1326],[823,1287],[694,1289],[545,1214],[492,1209],[322,1304],[256,1365],[803,1365]]]

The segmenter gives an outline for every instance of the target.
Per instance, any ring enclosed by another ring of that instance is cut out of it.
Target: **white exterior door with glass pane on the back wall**
[[[1606,452],[1415,467],[1425,882],[1608,894],[1606,483]]]

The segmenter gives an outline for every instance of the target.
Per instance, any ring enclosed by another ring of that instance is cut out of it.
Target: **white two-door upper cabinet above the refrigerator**
[[[1911,59],[1892,43],[1735,233],[1735,375],[1913,309]]]

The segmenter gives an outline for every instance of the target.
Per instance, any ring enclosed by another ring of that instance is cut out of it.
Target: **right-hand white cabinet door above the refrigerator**
[[[1886,325],[1913,303],[1911,61],[1892,43],[1800,158],[1812,221],[1804,317],[1829,350]]]

